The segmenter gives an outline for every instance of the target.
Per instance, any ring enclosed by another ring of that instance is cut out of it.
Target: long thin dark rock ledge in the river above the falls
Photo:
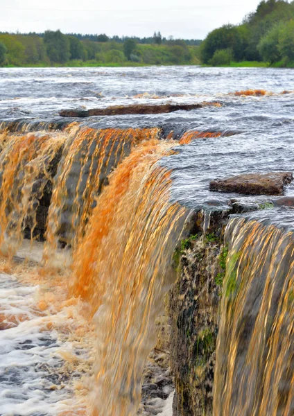
[[[114,105],[107,108],[92,108],[91,110],[61,110],[62,117],[89,117],[89,116],[118,116],[123,114],[159,114],[169,113],[178,110],[194,110],[201,108],[201,104],[134,104]]]

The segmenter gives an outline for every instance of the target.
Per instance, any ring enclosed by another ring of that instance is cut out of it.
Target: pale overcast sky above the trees
[[[260,0],[0,0],[0,31],[106,33],[203,39],[240,23]]]

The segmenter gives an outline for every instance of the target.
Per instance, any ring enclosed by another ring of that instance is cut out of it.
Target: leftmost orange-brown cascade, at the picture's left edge
[[[66,135],[62,133],[29,133],[2,135],[0,154],[0,248],[15,254],[26,227],[31,237],[37,225],[37,214],[45,188],[52,187],[55,168],[60,159]]]

